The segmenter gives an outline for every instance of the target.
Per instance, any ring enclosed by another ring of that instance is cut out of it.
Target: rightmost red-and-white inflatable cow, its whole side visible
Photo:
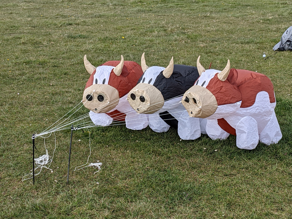
[[[267,76],[230,69],[229,60],[222,72],[205,70],[199,61],[200,56],[200,77],[185,92],[182,103],[191,117],[208,119],[206,132],[212,139],[236,135],[237,147],[251,150],[259,140],[270,145],[282,138],[274,112],[274,88]]]

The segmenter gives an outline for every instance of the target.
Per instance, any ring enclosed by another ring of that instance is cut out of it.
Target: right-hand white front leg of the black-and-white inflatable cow
[[[187,112],[187,111],[186,111]],[[181,116],[183,117],[183,116]],[[178,118],[178,135],[183,140],[194,140],[201,137],[199,118]]]

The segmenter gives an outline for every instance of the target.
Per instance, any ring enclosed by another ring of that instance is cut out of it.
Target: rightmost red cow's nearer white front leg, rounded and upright
[[[252,150],[258,145],[258,123],[253,117],[246,116],[239,120],[235,128],[236,146],[240,149]]]

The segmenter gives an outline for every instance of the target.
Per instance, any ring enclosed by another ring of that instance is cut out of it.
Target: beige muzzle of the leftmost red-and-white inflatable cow
[[[119,103],[119,91],[108,84],[93,84],[86,88],[82,102],[95,113],[105,113],[114,109]]]

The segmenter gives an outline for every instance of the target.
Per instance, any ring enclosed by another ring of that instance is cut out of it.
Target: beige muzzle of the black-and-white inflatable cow
[[[137,84],[128,93],[128,102],[137,113],[152,114],[164,105],[161,92],[151,84]]]

